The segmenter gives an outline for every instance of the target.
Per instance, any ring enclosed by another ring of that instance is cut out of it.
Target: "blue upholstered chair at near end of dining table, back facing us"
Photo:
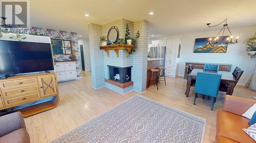
[[[205,72],[197,73],[194,105],[196,105],[197,94],[214,97],[212,99],[211,110],[214,109],[214,103],[219,92],[221,74],[212,74]]]

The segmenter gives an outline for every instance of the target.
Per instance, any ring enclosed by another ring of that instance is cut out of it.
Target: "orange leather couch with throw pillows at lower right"
[[[216,125],[216,142],[255,143],[242,129],[249,127],[249,119],[242,114],[250,108],[256,100],[226,95],[223,109],[218,111]]]

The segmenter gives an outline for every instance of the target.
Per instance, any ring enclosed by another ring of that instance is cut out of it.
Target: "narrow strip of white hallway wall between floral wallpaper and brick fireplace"
[[[78,40],[79,48],[80,48],[80,45],[83,45],[84,68],[86,71],[91,71],[89,39],[84,38],[84,39]]]

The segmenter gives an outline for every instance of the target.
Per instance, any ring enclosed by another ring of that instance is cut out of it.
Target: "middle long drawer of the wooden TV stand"
[[[35,93],[35,92],[39,92],[38,85],[2,91],[4,99],[10,98],[10,97],[16,97],[16,96],[20,96],[20,95],[24,95],[24,94]]]

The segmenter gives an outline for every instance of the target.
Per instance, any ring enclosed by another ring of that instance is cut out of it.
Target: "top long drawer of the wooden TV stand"
[[[38,84],[37,78],[33,77],[33,78],[2,81],[2,82],[0,82],[0,88],[2,90],[5,90],[5,89],[21,88],[21,87],[37,85],[37,84]]]

